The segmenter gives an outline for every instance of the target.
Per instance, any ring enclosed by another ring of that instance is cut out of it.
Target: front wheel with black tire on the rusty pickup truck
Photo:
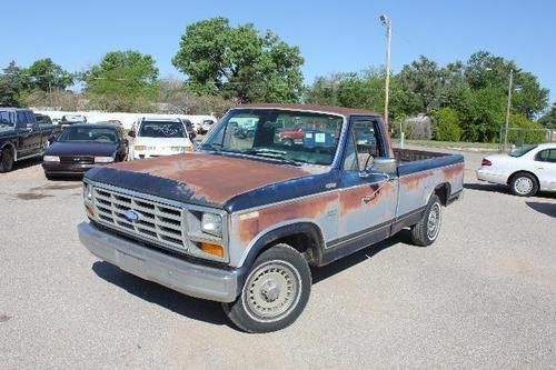
[[[228,318],[247,332],[270,332],[290,326],[309,300],[311,273],[304,257],[288,244],[262,252],[246,279],[241,294],[224,303]]]

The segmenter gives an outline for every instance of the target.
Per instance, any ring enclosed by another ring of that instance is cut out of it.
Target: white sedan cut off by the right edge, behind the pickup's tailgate
[[[519,197],[533,197],[539,190],[556,191],[556,143],[488,156],[477,170],[477,179],[508,186]]]

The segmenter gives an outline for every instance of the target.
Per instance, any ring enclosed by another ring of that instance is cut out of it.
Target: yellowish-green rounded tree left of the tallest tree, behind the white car
[[[158,96],[155,59],[139,51],[111,51],[82,77],[92,102],[106,110],[150,110]]]

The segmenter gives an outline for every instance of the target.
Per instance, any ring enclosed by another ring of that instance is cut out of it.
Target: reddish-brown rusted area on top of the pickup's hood
[[[326,170],[326,168],[297,168],[199,152],[121,162],[109,168],[177,181],[186,186],[195,198],[211,203],[225,203],[232,197],[261,187]]]

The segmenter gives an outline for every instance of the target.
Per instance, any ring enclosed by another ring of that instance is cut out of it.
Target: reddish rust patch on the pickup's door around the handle
[[[383,200],[395,196],[395,187],[390,182],[374,183],[368,187],[358,187],[340,193],[340,217],[360,210],[364,207],[375,207]],[[369,201],[364,199],[369,197]]]

